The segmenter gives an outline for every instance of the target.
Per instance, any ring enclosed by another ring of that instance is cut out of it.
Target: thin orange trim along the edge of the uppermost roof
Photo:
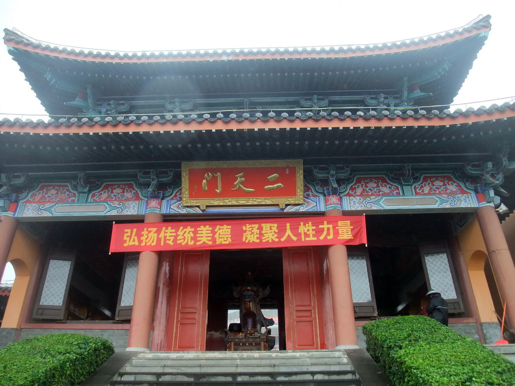
[[[156,62],[191,62],[191,61],[215,61],[215,60],[254,60],[254,59],[315,59],[315,58],[350,58],[350,57],[361,57],[369,55],[380,55],[380,54],[393,54],[396,52],[415,51],[422,48],[435,47],[442,44],[452,43],[461,39],[465,39],[476,34],[490,31],[490,27],[483,27],[480,29],[472,29],[470,31],[455,33],[452,36],[443,36],[441,38],[435,38],[431,40],[425,40],[420,43],[406,43],[402,45],[394,44],[384,45],[376,48],[368,48],[363,50],[358,49],[346,49],[344,51],[281,51],[281,52],[251,52],[243,54],[241,52],[226,52],[225,54],[189,54],[189,55],[159,55],[156,57],[148,56],[129,56],[129,57],[115,57],[111,58],[104,55],[91,55],[91,54],[78,54],[70,51],[56,52],[53,49],[33,47],[29,44],[16,43],[13,41],[6,41],[7,46],[13,48],[20,48],[26,51],[37,52],[38,54],[44,54],[48,56],[55,56],[59,58],[75,59],[75,60],[86,60],[94,62],[112,62],[112,63],[156,63]],[[407,39],[406,39],[407,40]],[[372,45],[372,44],[367,44]],[[344,45],[342,45],[343,47]],[[186,51],[186,50],[184,50]]]

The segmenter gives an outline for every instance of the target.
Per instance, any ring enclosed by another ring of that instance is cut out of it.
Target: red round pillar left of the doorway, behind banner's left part
[[[145,215],[145,222],[162,221],[163,216],[159,213],[147,213]],[[148,351],[158,265],[159,252],[146,251],[140,253],[127,350]]]

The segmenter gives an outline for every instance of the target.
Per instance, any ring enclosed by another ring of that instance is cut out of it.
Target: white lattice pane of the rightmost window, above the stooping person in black
[[[424,258],[431,288],[440,292],[444,299],[456,299],[456,289],[454,288],[447,253],[430,253],[424,255]]]

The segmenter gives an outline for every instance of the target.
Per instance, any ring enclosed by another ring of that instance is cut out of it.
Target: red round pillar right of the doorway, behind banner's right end
[[[325,215],[341,216],[342,212],[341,209],[329,209]],[[336,348],[358,348],[347,247],[330,245],[328,262]]]

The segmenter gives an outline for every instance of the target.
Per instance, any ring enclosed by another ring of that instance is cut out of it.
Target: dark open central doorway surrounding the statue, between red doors
[[[276,341],[278,348],[286,348],[284,329],[284,279],[282,249],[246,249],[211,251],[208,289],[207,351],[225,351],[224,329],[228,311],[239,308],[234,288],[245,281],[247,273],[261,286],[270,286],[268,295],[261,300],[261,308],[277,310]]]

